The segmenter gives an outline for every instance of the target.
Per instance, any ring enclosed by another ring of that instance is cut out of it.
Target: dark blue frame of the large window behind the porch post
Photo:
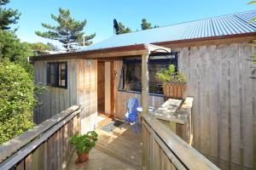
[[[176,66],[176,71],[177,71],[177,68],[178,68],[177,67],[177,64],[178,64],[177,54],[178,54],[178,52],[171,52],[171,53],[164,54],[164,55],[173,55],[174,56],[174,59],[170,60],[170,64],[173,63]],[[149,54],[149,57],[148,57],[148,69],[149,69],[149,66],[150,66],[150,60],[151,60],[150,57],[153,57],[153,56],[163,56],[163,54]],[[135,58],[136,58],[136,56],[135,56]],[[161,59],[156,59],[156,60],[157,60],[156,62],[158,62]],[[133,59],[133,60],[128,60],[128,59],[125,60],[125,59],[123,59],[123,65],[122,65],[122,69],[121,69],[120,76],[119,76],[118,91],[119,92],[125,92],[125,93],[131,93],[131,94],[142,94],[141,91],[120,89],[120,83],[121,83],[121,79],[123,78],[123,73],[124,73],[124,65],[125,65],[125,63],[129,63],[129,62],[130,63],[142,63],[142,59]],[[152,62],[152,60],[151,60],[151,62]],[[153,61],[153,63],[154,63],[154,61]],[[161,63],[161,62],[159,62],[159,63]],[[160,96],[160,97],[164,96],[164,94],[154,94],[154,93],[149,93],[149,95]]]

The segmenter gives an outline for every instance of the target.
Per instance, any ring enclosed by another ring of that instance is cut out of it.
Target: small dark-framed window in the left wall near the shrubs
[[[47,85],[67,88],[67,61],[47,64]]]

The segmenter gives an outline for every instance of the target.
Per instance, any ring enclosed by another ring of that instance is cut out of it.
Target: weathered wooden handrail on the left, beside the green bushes
[[[26,156],[26,153],[24,152],[25,150],[28,152],[29,150],[32,151],[33,149],[36,149],[39,144],[48,139],[47,137],[55,133],[60,128],[60,125],[64,126],[68,120],[71,120],[74,116],[79,114],[80,111],[80,105],[73,105],[67,110],[61,111],[61,113],[40,123],[38,126],[33,127],[32,129],[27,130],[25,133],[21,133],[15,138],[10,139],[8,142],[1,144],[0,163],[5,161],[9,156],[20,155],[20,153],[15,154],[15,152],[18,152],[18,150],[23,150],[21,155]],[[32,147],[27,150],[27,148],[24,148],[26,145],[32,145]],[[19,159],[22,158],[19,157]]]

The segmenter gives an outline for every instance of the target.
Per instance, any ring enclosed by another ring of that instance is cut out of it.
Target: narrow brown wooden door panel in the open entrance
[[[105,63],[98,61],[97,63],[97,97],[98,97],[98,113],[105,111]]]

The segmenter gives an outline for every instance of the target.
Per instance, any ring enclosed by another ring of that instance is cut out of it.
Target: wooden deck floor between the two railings
[[[142,127],[137,125],[137,133],[130,125],[122,124],[113,132],[108,133],[96,129],[99,139],[96,148],[90,152],[90,161],[82,169],[141,169],[142,168]],[[96,159],[98,157],[98,160]],[[69,162],[68,170],[79,169],[73,161]],[[96,160],[96,161],[95,161]],[[115,163],[117,163],[115,165]],[[90,167],[90,168],[89,168]]]

